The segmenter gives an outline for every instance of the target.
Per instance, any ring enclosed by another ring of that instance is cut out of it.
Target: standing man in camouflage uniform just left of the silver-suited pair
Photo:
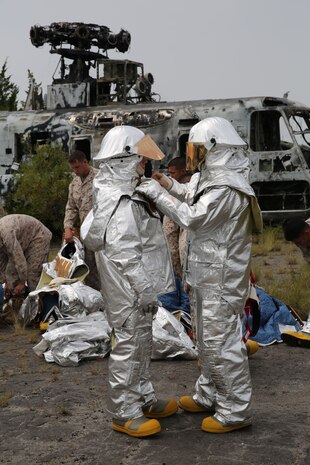
[[[69,185],[68,201],[65,210],[64,229],[65,240],[67,242],[73,240],[73,235],[76,235],[77,228],[83,223],[85,217],[92,209],[93,180],[98,173],[96,168],[88,164],[85,154],[79,150],[74,151],[70,155],[69,162],[76,176],[74,176]],[[85,263],[89,268],[89,275],[85,279],[85,284],[99,291],[100,281],[95,255],[86,247],[84,247],[84,252]]]

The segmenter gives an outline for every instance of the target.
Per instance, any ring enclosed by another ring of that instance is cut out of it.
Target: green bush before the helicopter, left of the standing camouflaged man
[[[7,201],[9,213],[34,216],[61,238],[63,218],[71,181],[67,155],[50,144],[37,147],[36,154],[21,165],[14,190]]]

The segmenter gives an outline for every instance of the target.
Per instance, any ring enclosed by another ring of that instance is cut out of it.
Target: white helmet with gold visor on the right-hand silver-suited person
[[[213,147],[246,147],[232,124],[218,116],[205,118],[190,130],[186,147],[186,169],[194,171]]]

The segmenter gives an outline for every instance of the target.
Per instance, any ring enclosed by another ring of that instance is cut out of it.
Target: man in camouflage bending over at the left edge
[[[51,231],[32,216],[0,218],[0,275],[13,294],[22,294],[26,282],[30,291],[36,288],[51,239]]]

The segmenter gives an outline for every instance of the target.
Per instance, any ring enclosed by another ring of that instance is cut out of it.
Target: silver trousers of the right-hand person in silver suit
[[[241,316],[209,290],[194,289],[193,298],[201,366],[194,400],[215,407],[215,418],[224,425],[248,422],[252,385]]]

